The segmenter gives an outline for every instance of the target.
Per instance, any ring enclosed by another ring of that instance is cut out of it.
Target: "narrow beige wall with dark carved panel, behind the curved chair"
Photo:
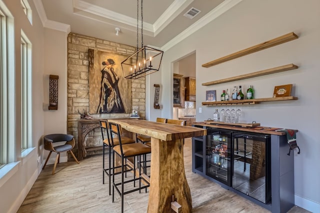
[[[43,111],[44,135],[67,133],[67,34],[54,29],[44,29]],[[48,110],[49,75],[58,75],[58,109]],[[44,150],[43,160],[49,151]],[[47,164],[55,161],[55,154]],[[42,160],[42,162],[43,162]],[[60,154],[60,162],[67,161],[66,152]]]

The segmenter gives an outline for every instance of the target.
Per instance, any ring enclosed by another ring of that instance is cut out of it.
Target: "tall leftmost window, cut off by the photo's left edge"
[[[0,167],[16,161],[14,20],[0,0]]]

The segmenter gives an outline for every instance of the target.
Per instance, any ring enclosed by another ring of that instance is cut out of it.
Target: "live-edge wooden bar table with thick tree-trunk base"
[[[139,119],[108,119],[127,131],[151,136],[150,187],[147,212],[171,212],[172,195],[191,212],[192,202],[183,162],[183,138],[206,134],[206,129]]]

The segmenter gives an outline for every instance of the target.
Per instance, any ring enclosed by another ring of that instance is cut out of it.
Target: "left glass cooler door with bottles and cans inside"
[[[231,185],[231,133],[208,129],[206,140],[206,175]]]

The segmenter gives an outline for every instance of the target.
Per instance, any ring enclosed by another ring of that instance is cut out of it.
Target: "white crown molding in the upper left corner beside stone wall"
[[[67,34],[71,31],[69,24],[60,23],[57,21],[47,19],[41,0],[33,0],[33,3],[36,11],[38,12],[43,27],[63,31]]]

